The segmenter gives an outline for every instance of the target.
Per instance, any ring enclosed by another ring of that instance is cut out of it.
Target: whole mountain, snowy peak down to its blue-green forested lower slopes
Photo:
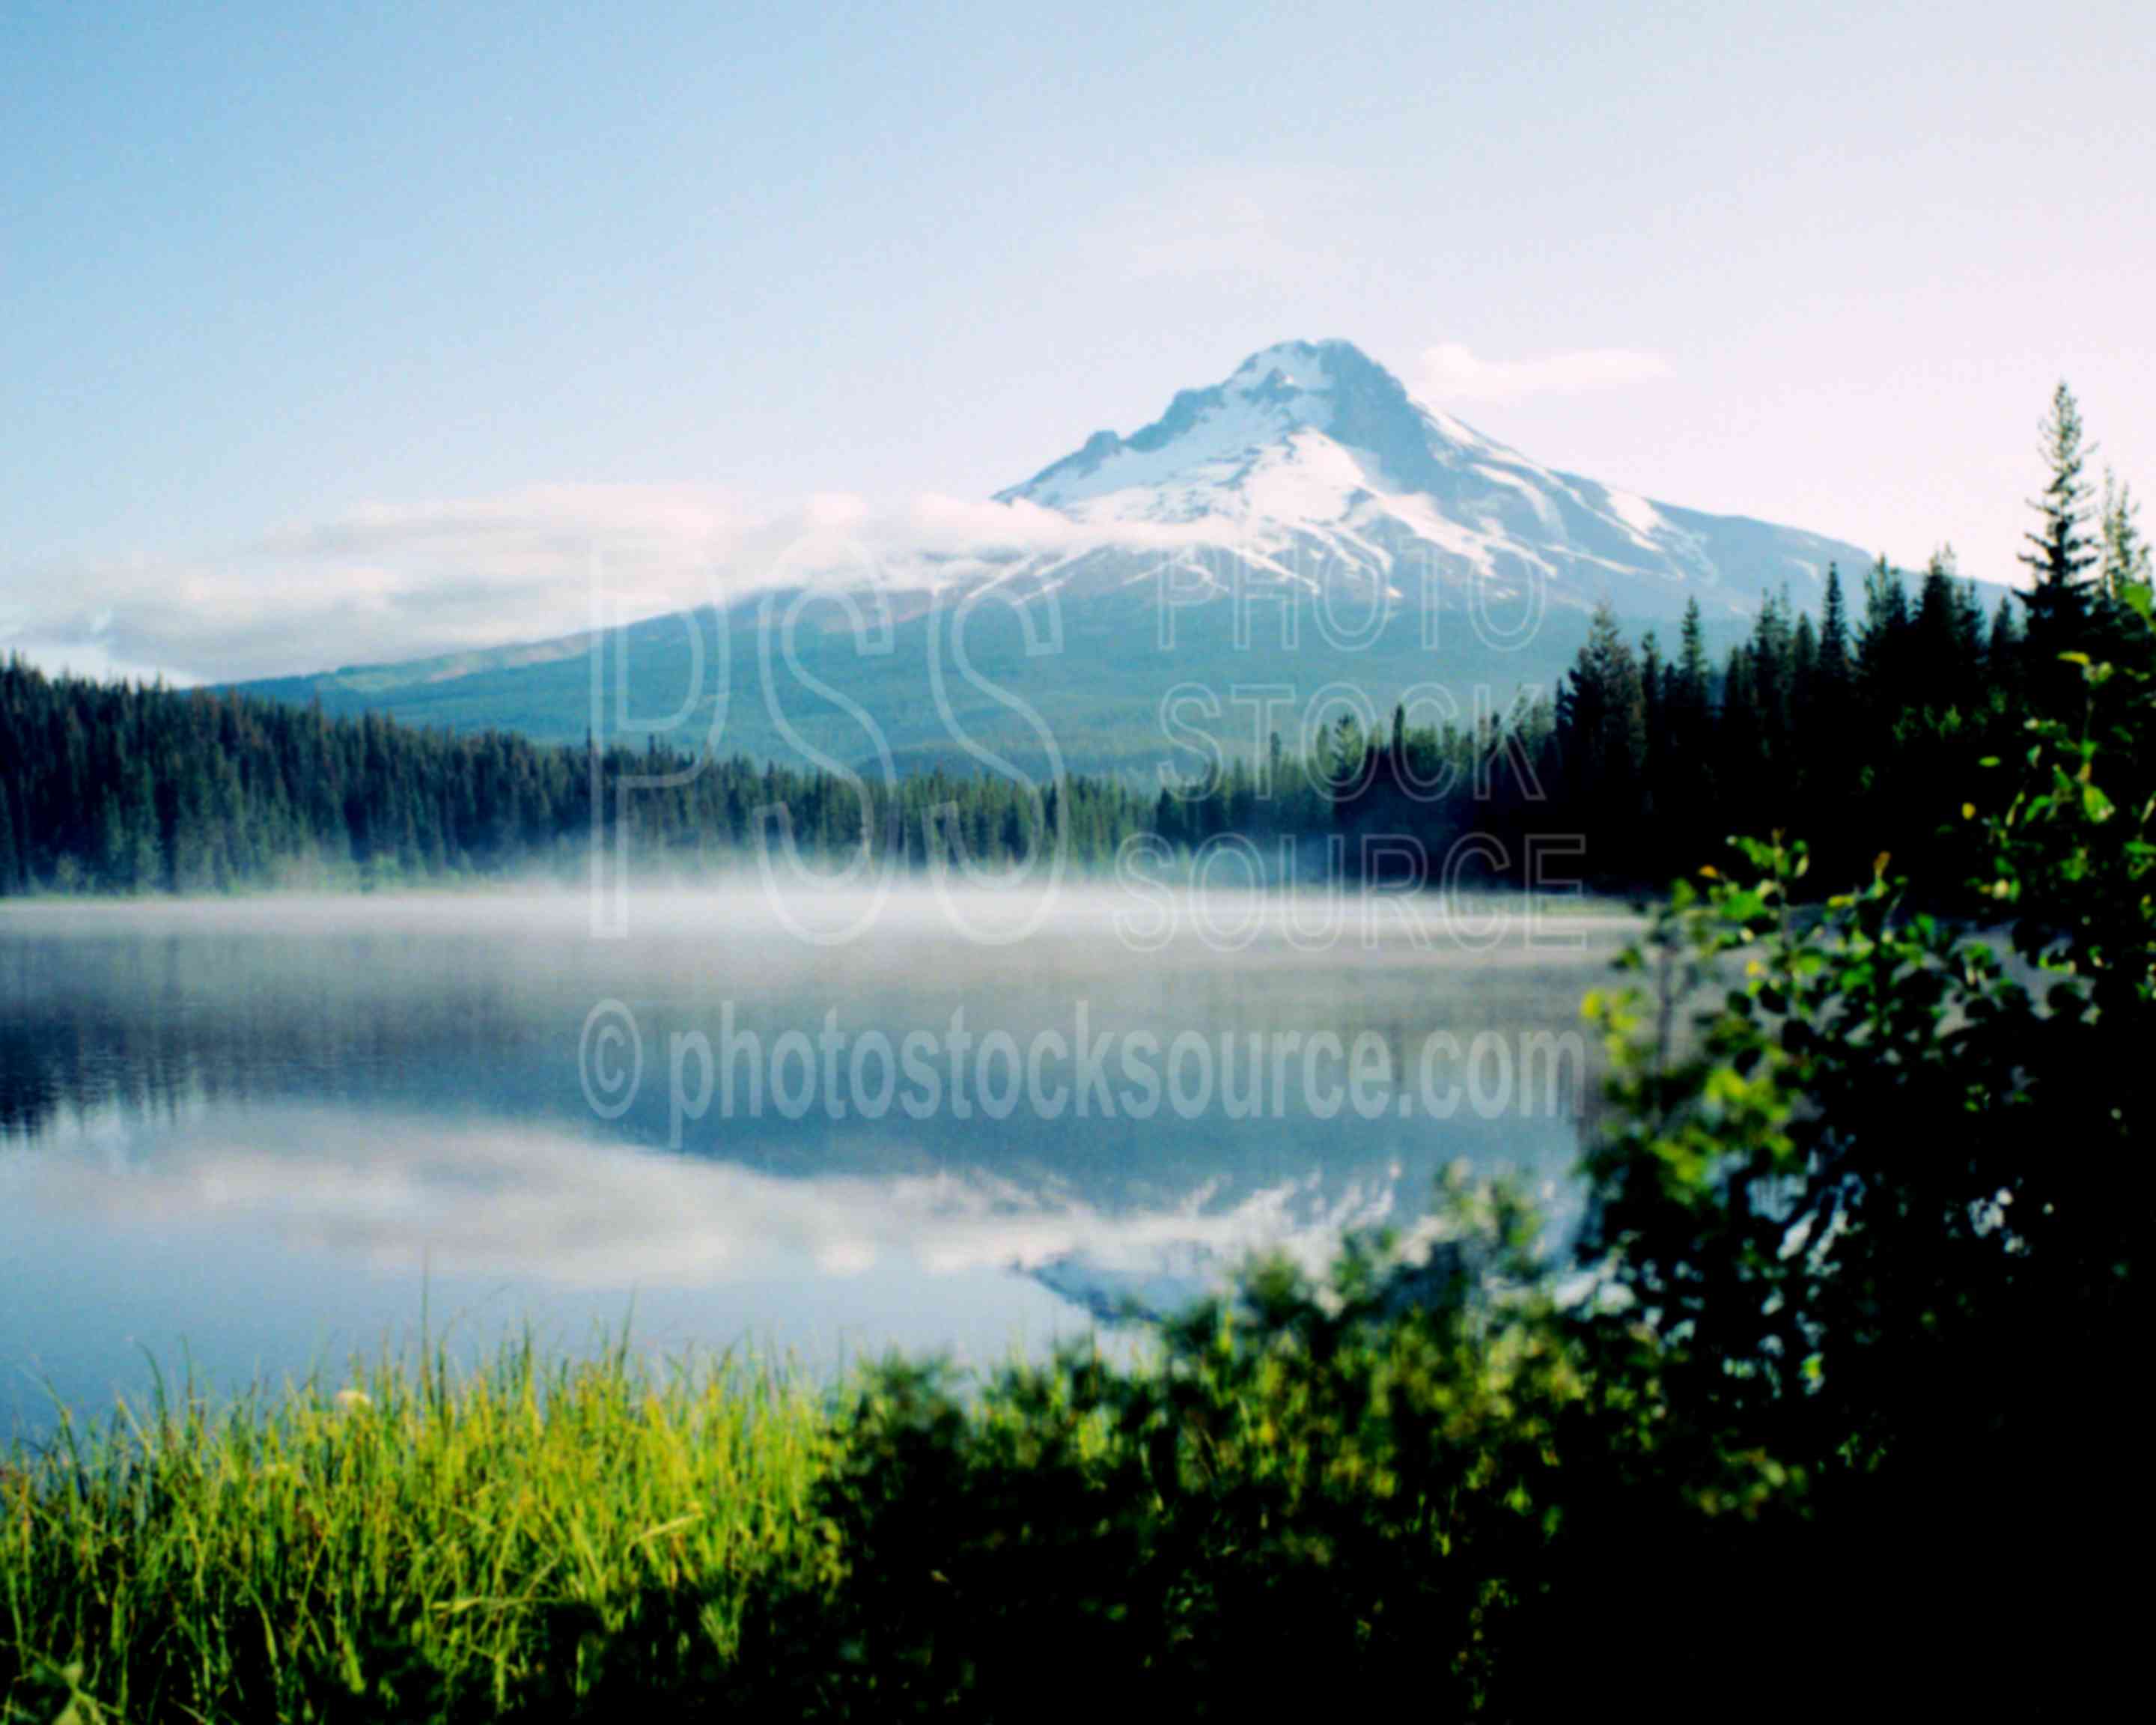
[[[1718,653],[1768,593],[1815,608],[1830,561],[1856,576],[1869,558],[1554,472],[1414,401],[1343,341],[1283,343],[994,502],[802,533],[733,569],[724,608],[632,623],[604,662],[634,673],[638,709],[701,703],[699,722],[722,709],[724,746],[759,757],[813,744],[817,763],[880,761],[880,737],[910,765],[955,772],[979,770],[990,746],[1153,774],[1169,690],[1205,686],[1227,712],[1238,688],[1313,699],[1345,679],[1382,714],[1438,684],[1466,714],[1479,690],[1503,705],[1557,688],[1602,599],[1639,634],[1697,597]],[[1270,582],[1268,597],[1294,604],[1240,604],[1244,580],[1244,597]],[[854,604],[871,593],[877,604]],[[1477,597],[1494,608],[1477,615]],[[796,604],[800,627],[768,651],[770,617]],[[261,688],[573,742],[591,729],[593,645],[563,636]],[[705,675],[707,656],[724,675]]]

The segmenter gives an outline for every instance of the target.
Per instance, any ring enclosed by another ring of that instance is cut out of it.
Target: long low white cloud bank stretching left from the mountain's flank
[[[1084,526],[1031,502],[826,492],[783,507],[666,485],[548,485],[367,505],[224,556],[17,567],[0,651],[52,671],[244,681],[448,658],[774,586],[918,591],[1102,543],[1181,546],[1192,526]]]

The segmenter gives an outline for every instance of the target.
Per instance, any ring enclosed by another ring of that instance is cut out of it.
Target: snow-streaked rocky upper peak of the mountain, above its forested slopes
[[[1749,612],[1781,586],[1811,604],[1830,561],[1867,561],[1546,468],[1419,403],[1345,341],[1266,347],[1143,431],[1095,431],[998,502],[1054,511],[1097,548],[1203,546],[1309,584],[1382,580],[1410,604],[1432,578],[1440,602],[1466,580],[1507,593],[1542,578],[1559,606],[1608,597],[1651,617],[1697,595]]]

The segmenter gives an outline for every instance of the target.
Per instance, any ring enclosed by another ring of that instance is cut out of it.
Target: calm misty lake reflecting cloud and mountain
[[[1455,1158],[1561,1199],[1578,1000],[1634,927],[1110,891],[1033,932],[923,891],[627,912],[0,908],[0,1438],[151,1361],[341,1374],[423,1311],[474,1346],[634,1302],[664,1350],[994,1358],[1410,1225]]]

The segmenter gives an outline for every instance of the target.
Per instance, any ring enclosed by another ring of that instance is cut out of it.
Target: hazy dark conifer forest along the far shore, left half
[[[638,783],[617,796],[625,781]],[[791,839],[813,858],[867,845],[910,867],[998,865],[1048,839],[1100,862],[1147,800],[1112,781],[1033,791],[927,772],[897,787],[746,757],[455,735],[326,718],[239,694],[0,668],[0,893],[207,893],[500,875],[576,862],[627,819],[632,845],[683,867]],[[865,806],[867,798],[867,806]],[[774,815],[772,811],[783,811]]]

